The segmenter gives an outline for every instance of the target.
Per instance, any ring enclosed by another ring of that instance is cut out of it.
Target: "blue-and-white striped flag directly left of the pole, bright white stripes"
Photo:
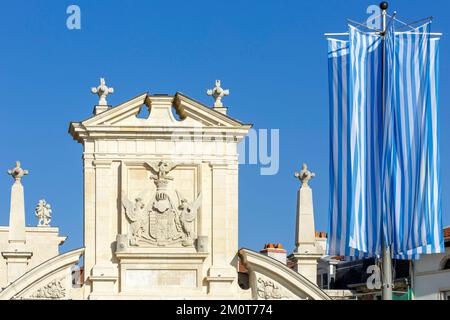
[[[350,26],[350,247],[375,255],[381,241],[382,39]]]

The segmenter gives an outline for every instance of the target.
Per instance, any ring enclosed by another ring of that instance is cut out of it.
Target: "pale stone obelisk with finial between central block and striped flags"
[[[295,270],[309,281],[317,283],[317,260],[322,256],[316,247],[314,207],[312,189],[309,181],[315,174],[303,164],[302,170],[295,174],[302,185],[297,191],[297,221],[295,232],[295,251],[290,259],[295,262]]]

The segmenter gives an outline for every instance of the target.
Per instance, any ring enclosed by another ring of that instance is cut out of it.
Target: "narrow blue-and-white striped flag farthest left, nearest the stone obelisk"
[[[330,255],[354,256],[350,241],[351,172],[350,161],[350,52],[348,41],[328,42],[330,94]]]

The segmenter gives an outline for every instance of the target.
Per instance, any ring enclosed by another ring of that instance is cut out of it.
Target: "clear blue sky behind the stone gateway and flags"
[[[53,225],[69,235],[63,251],[82,246],[81,145],[67,133],[97,102],[100,76],[113,105],[145,91],[181,91],[208,105],[205,90],[221,79],[231,90],[229,114],[255,128],[280,130],[280,170],[261,176],[240,168],[239,242],[294,246],[293,174],[307,162],[317,177],[316,229],[327,229],[328,79],[325,32],[345,31],[345,18],[364,21],[375,1],[2,1],[0,10],[0,224],[9,216],[12,179],[21,160],[27,224],[45,198]],[[66,28],[66,8],[81,8],[81,30]],[[447,0],[390,1],[398,18],[434,16],[433,31],[450,34]],[[450,225],[449,41],[441,47],[441,162],[444,225]]]

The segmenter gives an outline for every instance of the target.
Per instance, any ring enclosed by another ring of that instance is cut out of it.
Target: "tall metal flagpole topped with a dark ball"
[[[387,2],[380,3],[381,9],[381,19],[382,19],[382,32],[381,32],[381,41],[383,48],[383,58],[382,58],[382,110],[383,117],[386,107],[386,92],[385,92],[385,79],[386,79],[386,31],[387,31],[387,9],[389,5]],[[382,241],[382,298],[383,300],[392,300],[392,257],[391,257],[391,248],[385,242],[384,237],[384,228],[381,228],[381,241]]]

